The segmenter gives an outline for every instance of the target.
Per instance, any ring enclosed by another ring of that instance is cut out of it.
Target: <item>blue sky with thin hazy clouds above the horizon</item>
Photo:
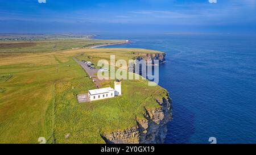
[[[0,0],[0,33],[256,33],[256,0]]]

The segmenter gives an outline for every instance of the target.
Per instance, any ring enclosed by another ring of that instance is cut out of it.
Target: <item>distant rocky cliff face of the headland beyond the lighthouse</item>
[[[137,57],[137,60],[147,60],[147,61],[152,61],[154,60],[159,60],[159,63],[164,63],[166,61],[166,54],[165,53],[133,53]]]

